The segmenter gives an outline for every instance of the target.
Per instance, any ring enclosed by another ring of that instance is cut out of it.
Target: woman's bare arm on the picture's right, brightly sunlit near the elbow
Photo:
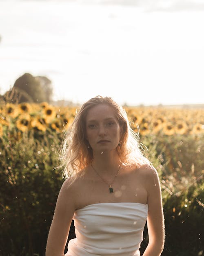
[[[147,228],[149,244],[143,256],[160,256],[164,249],[164,215],[160,180],[155,168],[146,169],[146,188],[148,192]]]

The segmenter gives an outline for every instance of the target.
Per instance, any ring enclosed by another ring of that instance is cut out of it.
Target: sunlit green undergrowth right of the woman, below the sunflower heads
[[[160,175],[166,232],[162,256],[203,254],[203,141],[203,135],[143,138]],[[146,228],[144,238],[141,252],[148,242]]]

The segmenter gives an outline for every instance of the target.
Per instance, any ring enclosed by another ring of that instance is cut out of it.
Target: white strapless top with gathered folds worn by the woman
[[[67,256],[139,256],[148,205],[99,203],[76,210]]]

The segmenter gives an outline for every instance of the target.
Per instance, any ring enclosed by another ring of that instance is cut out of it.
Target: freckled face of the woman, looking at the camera
[[[93,151],[115,150],[122,129],[114,110],[107,104],[98,104],[89,109],[86,116],[86,139]]]

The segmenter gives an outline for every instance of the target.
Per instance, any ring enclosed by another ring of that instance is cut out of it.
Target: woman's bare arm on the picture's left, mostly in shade
[[[64,256],[64,247],[75,211],[75,200],[72,190],[70,179],[67,179],[62,184],[58,195],[55,213],[47,239],[46,256]]]

